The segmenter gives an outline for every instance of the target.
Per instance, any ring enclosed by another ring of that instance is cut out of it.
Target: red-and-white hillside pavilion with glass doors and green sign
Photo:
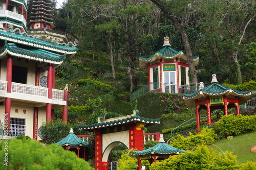
[[[199,57],[194,57],[193,62],[197,66]],[[148,91],[182,93],[189,85],[187,57],[170,47],[168,37],[164,37],[160,51],[150,58],[140,57],[139,66],[148,72]]]

